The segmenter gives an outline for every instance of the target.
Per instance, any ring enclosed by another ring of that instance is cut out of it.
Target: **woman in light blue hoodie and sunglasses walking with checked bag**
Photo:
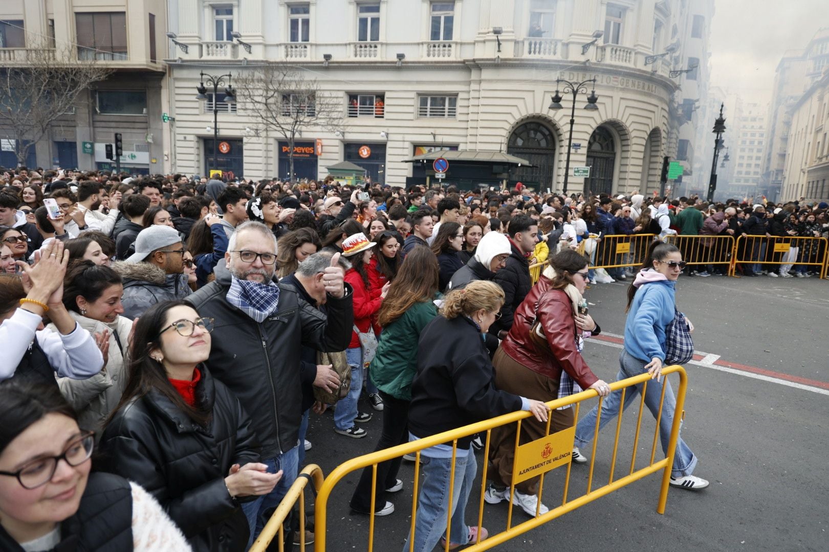
[[[671,439],[676,399],[667,378],[662,382],[662,364],[665,362],[665,329],[677,314],[675,290],[676,280],[686,262],[682,260],[679,249],[671,243],[653,242],[648,249],[647,258],[642,263],[633,283],[628,287],[628,319],[624,328],[624,348],[619,354],[619,372],[617,380],[649,373],[651,381],[647,382],[645,404],[654,418],[659,420],[659,437],[662,440],[662,452],[667,454],[668,441]],[[691,331],[693,325],[685,319]],[[665,387],[665,401],[662,413],[659,402]],[[599,429],[618,415],[619,406],[625,410],[636,396],[642,392],[642,386],[628,387],[624,404],[622,391],[613,391],[603,401]],[[593,439],[596,427],[598,405],[590,410],[576,426],[575,446],[584,445]],[[691,475],[696,468],[696,455],[681,438],[676,442],[676,454],[671,470],[671,485],[689,490],[708,487],[705,479]]]

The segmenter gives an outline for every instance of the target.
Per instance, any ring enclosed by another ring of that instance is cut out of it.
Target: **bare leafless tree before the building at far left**
[[[0,68],[0,136],[15,141],[23,165],[29,149],[71,113],[78,96],[112,70],[96,60],[78,60],[70,46],[35,44],[17,50],[16,58]]]

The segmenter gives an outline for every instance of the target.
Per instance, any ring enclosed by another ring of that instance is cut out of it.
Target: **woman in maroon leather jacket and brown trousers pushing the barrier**
[[[579,314],[579,304],[587,286],[587,258],[570,249],[550,260],[536,286],[516,310],[516,319],[507,337],[492,359],[495,385],[498,389],[527,396],[538,401],[554,401],[582,389],[594,389],[606,396],[610,387],[590,370],[581,356],[583,337],[599,334],[589,314]],[[531,337],[536,321],[541,323],[545,344]],[[550,433],[574,425],[574,409],[553,410]],[[535,420],[521,424],[521,444],[545,437],[546,425]],[[493,484],[484,500],[497,504],[510,499],[509,484],[515,458],[516,425],[508,424],[492,430],[489,449],[489,474]],[[574,462],[586,458],[573,449]],[[505,487],[507,487],[505,489]],[[531,478],[516,484],[512,501],[530,516],[536,515],[539,479]],[[540,514],[547,507],[541,504]]]

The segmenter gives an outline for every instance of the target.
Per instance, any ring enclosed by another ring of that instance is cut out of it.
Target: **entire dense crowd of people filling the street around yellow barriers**
[[[825,240],[756,238],[829,235],[829,205],[802,200],[0,174],[2,550],[246,550],[329,409],[352,439],[381,413],[378,450],[528,410],[521,443],[550,417],[576,426],[585,463],[597,410],[545,401],[593,389],[604,425],[642,391],[622,403],[581,357],[601,331],[584,293],[602,282],[631,281],[618,379],[651,373],[666,451],[681,271],[725,275],[737,255],[742,276],[808,277]],[[483,498],[543,514],[537,478],[509,490],[515,442],[493,430]],[[487,537],[465,517],[481,448],[421,452],[405,550],[445,545],[448,516],[450,550]],[[377,467],[374,504],[367,468],[351,508],[392,514],[402,460]],[[705,488],[696,463],[680,439],[671,485]]]

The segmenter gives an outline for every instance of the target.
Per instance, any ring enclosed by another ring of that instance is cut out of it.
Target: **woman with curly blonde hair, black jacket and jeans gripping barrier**
[[[463,425],[488,420],[515,410],[529,410],[536,420],[546,421],[547,406],[507,391],[498,391],[495,374],[482,336],[499,316],[503,290],[489,281],[469,282],[453,290],[435,317],[420,334],[417,374],[412,382],[409,408],[410,440],[422,439]],[[452,343],[447,347],[446,343]],[[418,498],[414,526],[414,552],[429,552],[446,538],[449,547],[467,545],[487,538],[487,530],[467,526],[469,493],[478,464],[472,448],[475,435],[458,438],[455,451],[439,444],[420,453],[424,477]],[[452,511],[449,512],[451,493]],[[451,525],[447,527],[447,515]],[[410,550],[411,536],[404,552]]]

